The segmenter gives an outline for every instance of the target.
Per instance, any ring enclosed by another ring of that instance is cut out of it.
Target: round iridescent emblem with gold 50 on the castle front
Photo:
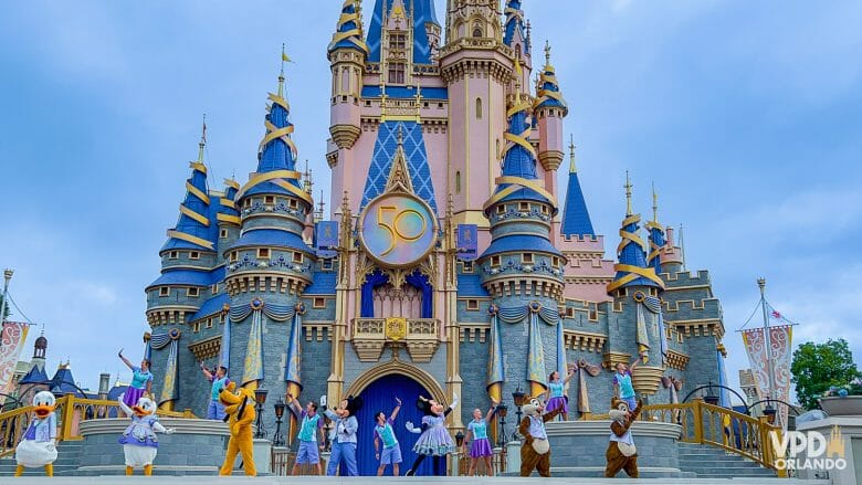
[[[387,266],[407,266],[434,246],[437,222],[422,200],[403,193],[372,200],[361,218],[359,238],[368,254]]]

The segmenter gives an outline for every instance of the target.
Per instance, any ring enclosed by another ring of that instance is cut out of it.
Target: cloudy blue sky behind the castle
[[[144,287],[177,221],[201,116],[210,181],[246,180],[283,42],[295,61],[293,138],[328,201],[326,45],[340,3],[4,4],[0,266],[15,270],[13,319],[36,325],[23,357],[44,326],[50,370],[71,359],[83,387],[103,371],[128,379],[116,352],[143,350]],[[687,267],[709,270],[733,387],[747,367],[735,330],[759,276],[772,306],[799,323],[796,342],[842,337],[859,362],[862,3],[523,6],[536,59],[553,45],[565,133],[608,255],[629,170],[637,210],[651,213],[654,182],[660,220],[684,224]]]

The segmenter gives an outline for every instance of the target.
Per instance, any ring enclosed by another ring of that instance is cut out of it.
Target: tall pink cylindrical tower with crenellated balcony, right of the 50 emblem
[[[506,140],[506,93],[515,53],[503,42],[500,2],[450,1],[440,73],[449,88],[448,192],[456,223],[477,224],[487,244],[482,204],[500,176]],[[526,84],[524,85],[526,86]]]

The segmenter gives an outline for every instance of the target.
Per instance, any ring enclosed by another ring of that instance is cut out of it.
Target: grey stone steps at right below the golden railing
[[[680,470],[697,478],[776,477],[776,473],[737,454],[708,444],[677,443]]]

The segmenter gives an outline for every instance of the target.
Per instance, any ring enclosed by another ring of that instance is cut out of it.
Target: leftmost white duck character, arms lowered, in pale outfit
[[[41,391],[33,397],[33,420],[24,432],[24,436],[15,447],[15,476],[24,473],[24,467],[45,467],[46,476],[54,476],[56,460],[56,400],[49,391]]]

